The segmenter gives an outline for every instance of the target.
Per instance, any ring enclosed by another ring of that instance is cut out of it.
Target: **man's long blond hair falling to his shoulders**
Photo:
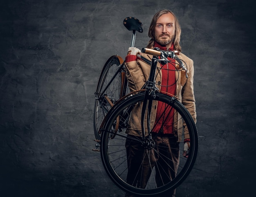
[[[153,48],[154,46],[154,42],[155,42],[155,25],[157,23],[157,20],[159,19],[160,16],[162,16],[163,14],[167,14],[167,13],[171,13],[174,16],[175,19],[175,35],[174,35],[174,49],[178,50],[181,52],[181,46],[180,46],[180,35],[181,35],[181,28],[180,28],[180,23],[177,19],[177,17],[174,15],[173,12],[171,12],[170,10],[161,10],[159,12],[157,12],[151,23],[150,23],[150,27],[148,29],[148,37],[150,37],[150,41],[148,42],[148,46],[146,48]]]

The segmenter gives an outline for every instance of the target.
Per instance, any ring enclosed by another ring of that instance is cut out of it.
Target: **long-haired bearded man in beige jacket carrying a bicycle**
[[[146,48],[157,47],[160,50],[177,50],[181,52],[180,35],[181,28],[175,15],[169,10],[159,11],[154,15],[151,21],[148,31],[148,36],[151,39]],[[140,90],[148,79],[150,72],[150,66],[140,59],[137,59],[137,54],[150,59],[148,55],[141,53],[139,49],[129,48],[128,55],[126,56],[126,77],[129,81],[129,88],[131,91]],[[179,58],[186,63],[188,77],[186,78],[185,71],[178,72],[175,70],[175,60],[169,59],[171,63],[166,63],[165,65],[158,63],[157,68],[161,69],[157,71],[156,86],[163,92],[168,92],[169,94],[177,96],[196,122],[195,97],[193,92],[193,60],[182,53],[180,53]],[[156,114],[154,127],[152,129],[153,139],[156,144],[154,151],[165,155],[166,158],[171,158],[167,161],[164,158],[155,157],[154,152],[152,151],[151,155],[153,156],[147,161],[150,163],[151,167],[155,166],[155,182],[157,187],[159,187],[170,182],[170,180],[176,176],[179,164],[179,142],[181,141],[182,134],[174,129],[174,110],[170,110],[170,112],[166,113],[164,103],[160,101],[157,103],[157,108],[152,110],[153,113]],[[167,114],[167,118],[165,117],[164,119],[167,119],[167,122],[161,119],[161,114],[163,113]],[[130,126],[126,130],[126,133],[130,136],[130,138],[127,138],[126,140],[128,162],[126,182],[135,187],[145,188],[151,170],[143,164],[145,170],[141,170],[140,173],[144,174],[144,176],[137,178],[137,172],[139,170],[138,165],[141,163],[140,158],[144,157],[145,150],[141,150],[140,147],[136,146],[131,140],[132,136],[140,136],[137,129],[139,125],[135,125],[135,123],[136,121],[130,120]],[[184,142],[183,156],[187,158],[190,145],[189,134],[184,135]],[[159,168],[159,166],[161,166],[161,168]],[[128,197],[131,195],[127,193],[126,196]],[[165,196],[175,197],[175,190]]]

